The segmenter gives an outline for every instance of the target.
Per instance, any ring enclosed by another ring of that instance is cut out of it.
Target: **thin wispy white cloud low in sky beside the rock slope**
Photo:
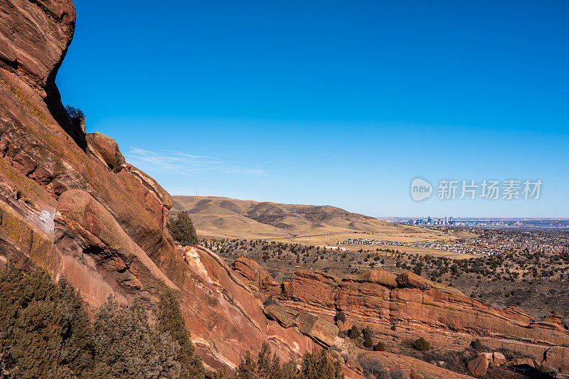
[[[130,164],[145,171],[167,171],[185,176],[206,174],[209,172],[253,175],[263,174],[264,172],[260,169],[232,166],[213,156],[193,155],[176,150],[151,151],[132,146],[124,156]]]

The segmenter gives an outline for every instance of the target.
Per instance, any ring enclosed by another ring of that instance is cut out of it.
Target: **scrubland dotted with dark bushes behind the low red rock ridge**
[[[533,236],[502,230],[481,230],[481,233],[483,240],[523,240]],[[535,233],[536,238],[545,240],[569,240],[567,232]],[[266,240],[224,239],[203,243],[230,262],[240,256],[256,260],[278,280],[285,279],[299,267],[336,277],[371,269],[420,272],[422,277],[455,287],[472,299],[500,307],[518,306],[531,314],[558,311],[569,317],[569,293],[564,290],[569,279],[569,242],[558,253],[524,248],[467,260],[408,254],[388,247],[346,252]]]

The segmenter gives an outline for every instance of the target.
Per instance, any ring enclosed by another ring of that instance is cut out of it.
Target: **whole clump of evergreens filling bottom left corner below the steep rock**
[[[9,262],[0,269],[0,305],[0,368],[9,378],[226,377],[203,368],[171,289],[154,325],[142,301],[123,306],[112,297],[91,322],[65,277],[54,282]]]

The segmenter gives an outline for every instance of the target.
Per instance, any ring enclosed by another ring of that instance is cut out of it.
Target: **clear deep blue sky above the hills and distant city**
[[[172,194],[569,217],[568,1],[75,6],[63,102]],[[415,203],[415,176],[543,188]]]

